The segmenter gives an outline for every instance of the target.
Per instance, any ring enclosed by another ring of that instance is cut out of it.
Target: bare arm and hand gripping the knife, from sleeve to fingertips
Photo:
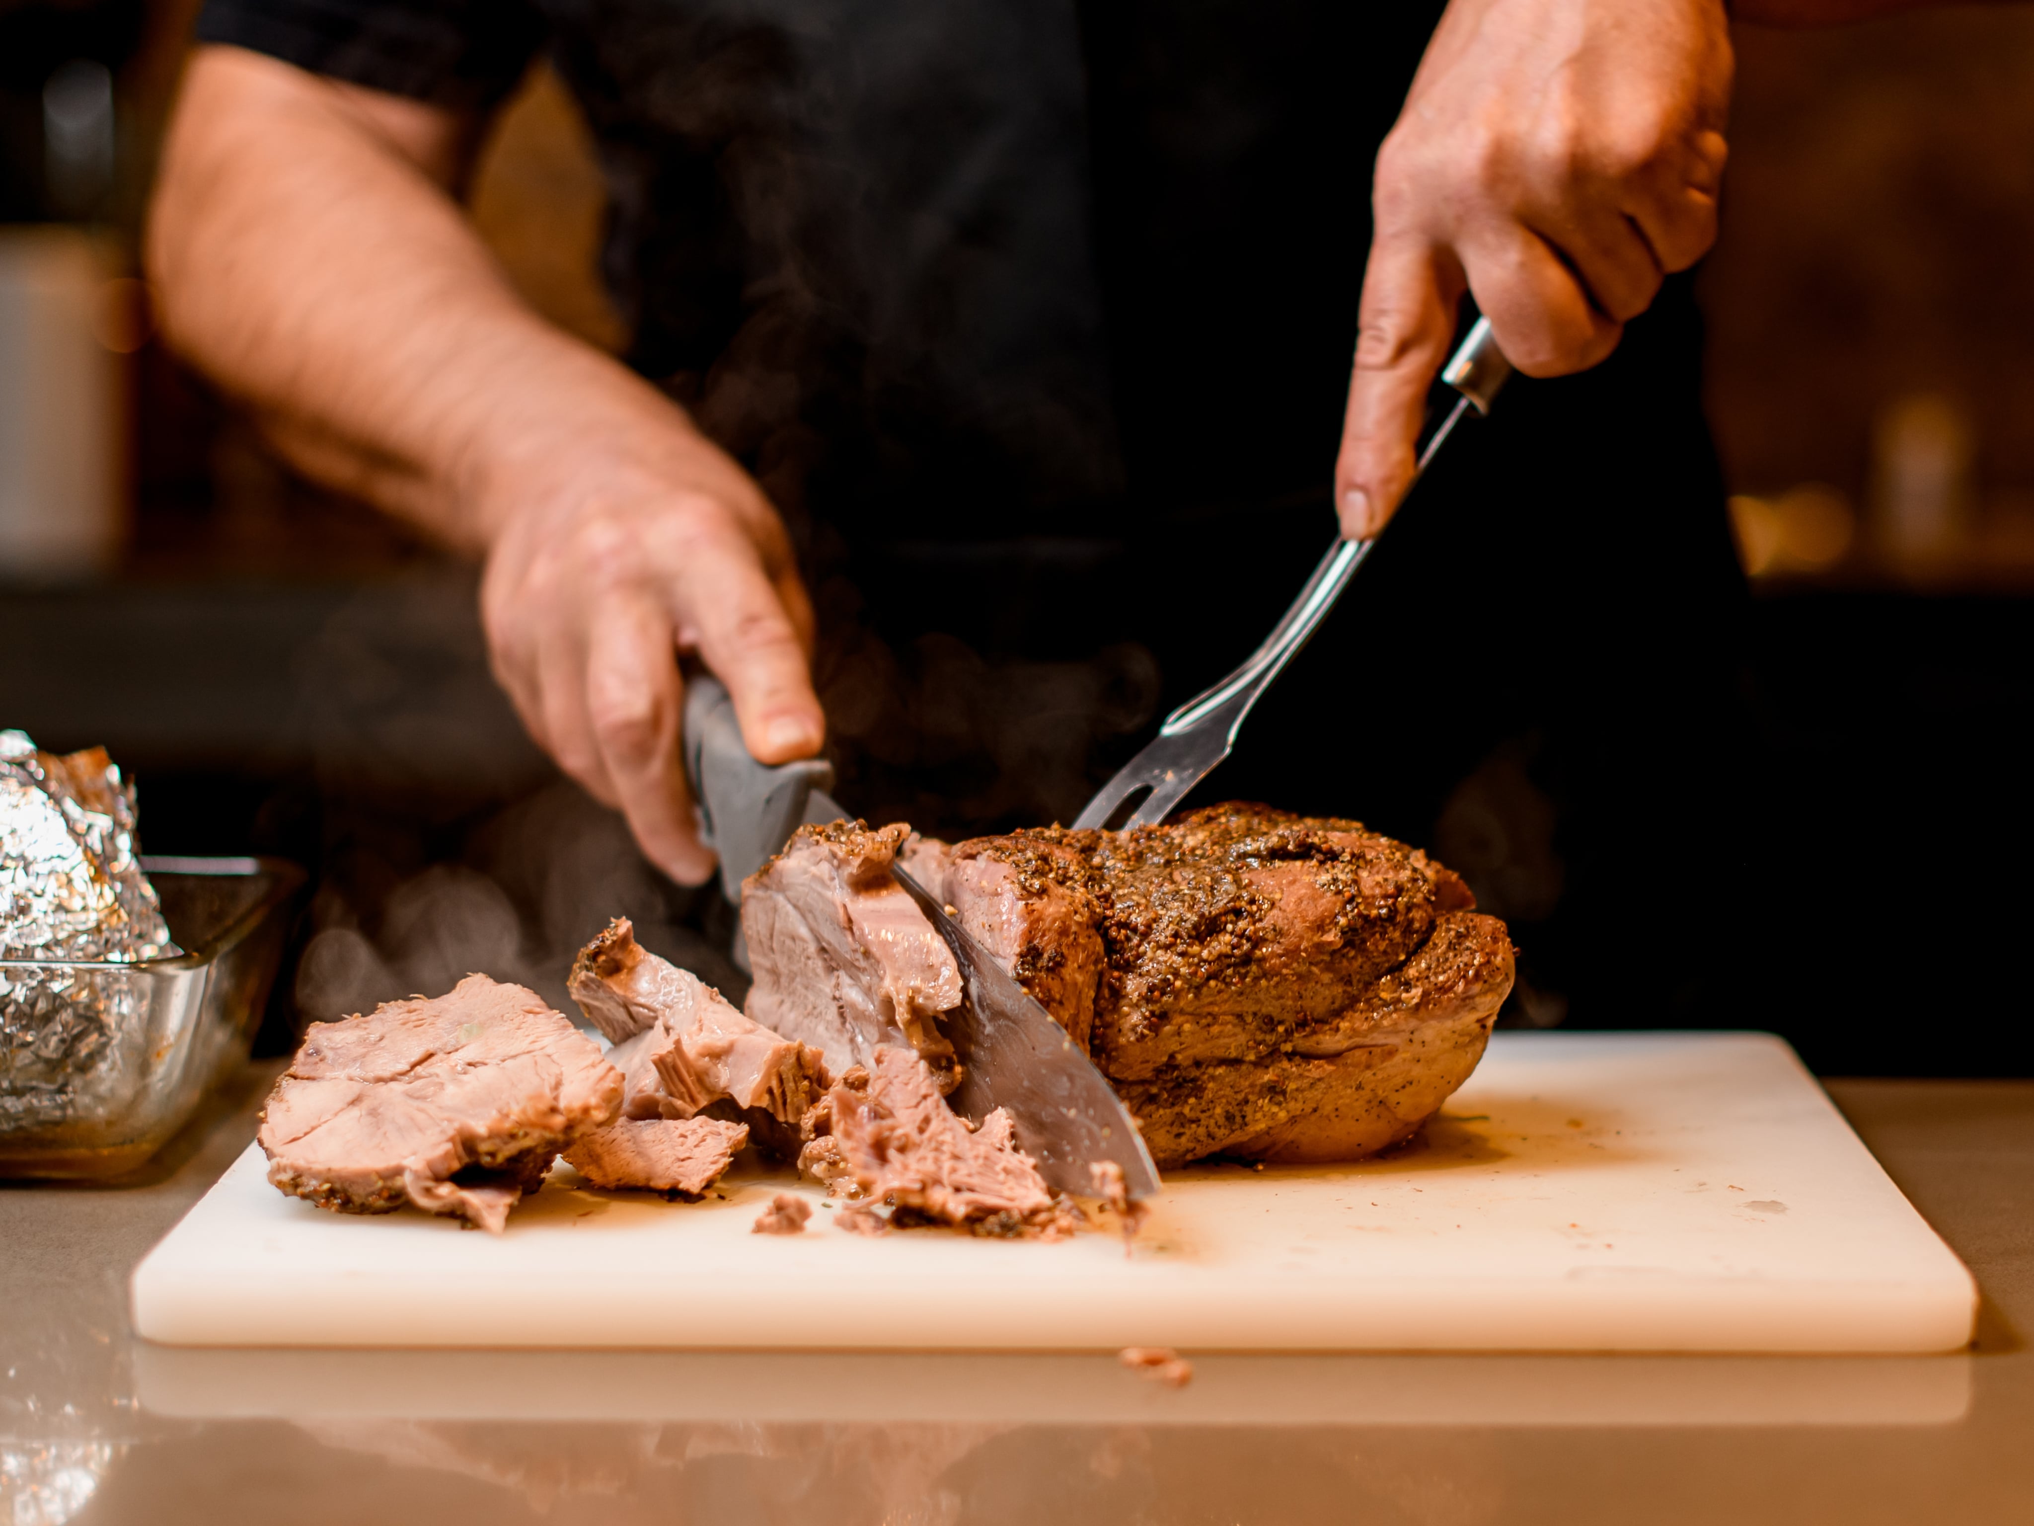
[[[818,751],[812,608],[757,484],[685,413],[508,289],[460,216],[478,124],[201,47],[148,273],[169,340],[305,474],[486,555],[525,724],[673,879],[714,867],[679,757],[679,653],[749,751]]]

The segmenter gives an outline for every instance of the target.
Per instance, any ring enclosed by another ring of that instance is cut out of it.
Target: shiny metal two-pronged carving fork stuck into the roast
[[[1440,378],[1452,387],[1458,397],[1448,409],[1440,427],[1428,435],[1426,444],[1420,448],[1420,456],[1414,462],[1412,480],[1418,482],[1434,460],[1434,454],[1448,442],[1454,427],[1462,421],[1469,409],[1477,413],[1489,413],[1491,403],[1497,397],[1497,389],[1505,385],[1511,374],[1511,362],[1505,360],[1503,352],[1497,348],[1491,336],[1491,324],[1487,317],[1479,317],[1462,344],[1450,356],[1448,364],[1442,368]],[[1408,484],[1410,488],[1412,484]],[[1363,566],[1363,557],[1371,553],[1377,545],[1377,537],[1365,541],[1336,541],[1328,547],[1328,553],[1314,568],[1314,574],[1306,580],[1300,596],[1292,602],[1279,623],[1271,627],[1271,635],[1265,637],[1263,645],[1249,655],[1249,659],[1202,694],[1182,704],[1165,722],[1157,728],[1157,741],[1153,741],[1145,753],[1159,749],[1161,753],[1172,753],[1165,747],[1168,739],[1184,739],[1194,732],[1218,732],[1220,751],[1206,759],[1202,767],[1168,767],[1163,771],[1163,787],[1153,787],[1151,794],[1139,804],[1137,812],[1125,822],[1125,826],[1151,826],[1165,820],[1165,814],[1186,796],[1188,789],[1222,757],[1235,747],[1237,732],[1243,728],[1243,720],[1249,716],[1251,706],[1257,704],[1271,680],[1283,671],[1285,663],[1292,661],[1294,653],[1306,645],[1308,637],[1320,627],[1334,608],[1334,600],[1342,596],[1349,580],[1357,576],[1357,568]],[[1151,779],[1137,777],[1151,771],[1157,759],[1147,759],[1139,753],[1131,759],[1109,785],[1088,802],[1088,808],[1076,820],[1076,826],[1102,826],[1109,816],[1115,814],[1119,804],[1127,804],[1129,791],[1147,783]]]

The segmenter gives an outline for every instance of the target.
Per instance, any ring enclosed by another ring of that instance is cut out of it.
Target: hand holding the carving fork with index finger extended
[[[1464,289],[1513,366],[1560,376],[1709,250],[1729,96],[1723,0],[1452,0],[1377,155],[1342,535],[1412,484]]]

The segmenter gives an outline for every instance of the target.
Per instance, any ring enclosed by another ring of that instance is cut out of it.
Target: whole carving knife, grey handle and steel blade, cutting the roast
[[[742,743],[734,702],[706,673],[685,680],[685,775],[700,810],[700,834],[720,855],[720,887],[734,905],[742,881],[783,848],[801,822],[846,816],[826,794],[834,767],[801,759],[769,767]],[[942,1032],[964,1066],[948,1099],[954,1111],[980,1123],[1009,1109],[1017,1146],[1037,1162],[1045,1184],[1060,1192],[1111,1196],[1096,1166],[1121,1170],[1123,1194],[1141,1202],[1157,1192],[1157,1168],[1115,1087],[1068,1038],[1066,1030],[997,964],[911,875],[897,871],[960,966],[962,1003]],[[734,958],[746,971],[749,950],[734,934]]]

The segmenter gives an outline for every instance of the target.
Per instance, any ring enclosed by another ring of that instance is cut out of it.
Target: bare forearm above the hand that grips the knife
[[[299,470],[470,549],[506,478],[722,470],[677,407],[517,299],[427,169],[452,175],[342,87],[199,51],[148,230],[169,342]]]

